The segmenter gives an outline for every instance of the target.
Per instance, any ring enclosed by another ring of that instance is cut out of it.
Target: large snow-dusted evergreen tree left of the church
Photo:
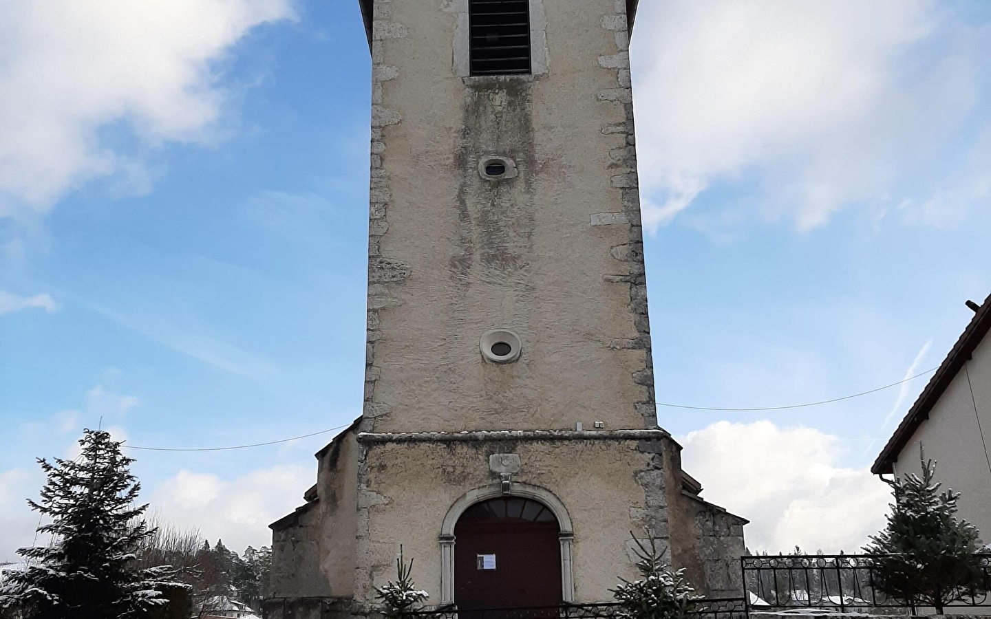
[[[170,567],[132,567],[153,534],[135,506],[141,490],[107,432],[86,430],[75,461],[39,459],[48,481],[32,509],[51,519],[47,548],[21,549],[27,560],[0,589],[0,609],[24,619],[139,619],[167,602],[161,590],[184,588]]]

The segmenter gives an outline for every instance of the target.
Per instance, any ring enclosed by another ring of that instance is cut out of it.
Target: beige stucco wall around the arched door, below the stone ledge
[[[386,443],[366,446],[368,497],[361,532],[356,599],[370,599],[373,583],[394,577],[399,544],[415,559],[418,587],[440,600],[441,523],[463,494],[493,483],[492,454],[515,453],[521,461],[513,482],[553,492],[567,507],[574,529],[575,599],[600,601],[618,577],[636,575],[630,531],[648,522],[645,490],[638,474],[655,454],[636,441],[497,441],[486,443]],[[429,476],[429,479],[426,477]],[[663,496],[663,492],[661,493]],[[663,505],[654,506],[663,510]],[[666,541],[662,540],[666,545]]]

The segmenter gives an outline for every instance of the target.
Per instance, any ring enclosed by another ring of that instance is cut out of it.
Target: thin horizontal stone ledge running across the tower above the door
[[[361,432],[359,443],[459,443],[469,441],[649,441],[666,430],[478,430],[474,432]]]

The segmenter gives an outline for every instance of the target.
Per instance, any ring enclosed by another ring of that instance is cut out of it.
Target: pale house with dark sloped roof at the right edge
[[[958,516],[991,538],[991,296],[978,305],[936,373],[899,424],[871,472],[921,471],[920,454],[936,462],[943,489],[961,493]]]

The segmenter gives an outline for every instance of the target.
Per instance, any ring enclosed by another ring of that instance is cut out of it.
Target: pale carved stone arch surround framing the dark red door
[[[500,496],[519,496],[533,499],[543,503],[554,513],[561,529],[559,534],[561,542],[561,599],[565,602],[575,601],[575,581],[572,576],[571,562],[571,546],[575,539],[575,534],[572,529],[571,516],[568,515],[568,509],[561,502],[561,499],[547,488],[514,481],[509,487],[508,492],[503,492],[501,483],[491,483],[470,490],[461,495],[447,510],[440,528],[441,604],[454,603],[454,545],[456,542],[454,527],[458,524],[458,519],[472,505]]]

